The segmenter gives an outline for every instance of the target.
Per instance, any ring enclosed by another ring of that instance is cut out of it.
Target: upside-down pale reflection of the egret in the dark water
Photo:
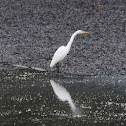
[[[69,103],[69,105],[70,105],[70,107],[72,109],[73,114],[80,116],[75,104],[73,103],[73,100],[72,100],[69,92],[64,87],[57,84],[53,80],[50,80],[50,83],[52,85],[52,88],[53,88],[55,94],[58,96],[59,100],[68,101],[68,103]]]

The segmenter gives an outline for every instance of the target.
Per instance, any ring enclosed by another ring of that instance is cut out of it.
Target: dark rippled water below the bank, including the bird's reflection
[[[126,76],[0,73],[1,126],[124,126]]]

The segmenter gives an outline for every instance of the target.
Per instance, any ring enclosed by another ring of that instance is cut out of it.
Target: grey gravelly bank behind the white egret
[[[62,73],[126,75],[124,0],[1,0],[0,70],[18,64],[56,72],[54,52],[78,29],[89,34],[76,36]]]

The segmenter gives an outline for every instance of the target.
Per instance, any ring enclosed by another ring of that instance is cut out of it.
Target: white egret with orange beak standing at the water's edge
[[[65,58],[65,56],[69,53],[70,48],[71,48],[71,44],[75,38],[75,36],[77,34],[88,34],[88,32],[86,31],[82,31],[82,30],[77,30],[75,33],[72,34],[70,41],[68,42],[68,44],[66,46],[61,46],[59,47],[56,52],[54,53],[54,56],[52,58],[50,67],[52,68],[55,64],[57,64],[59,61],[63,60]]]

